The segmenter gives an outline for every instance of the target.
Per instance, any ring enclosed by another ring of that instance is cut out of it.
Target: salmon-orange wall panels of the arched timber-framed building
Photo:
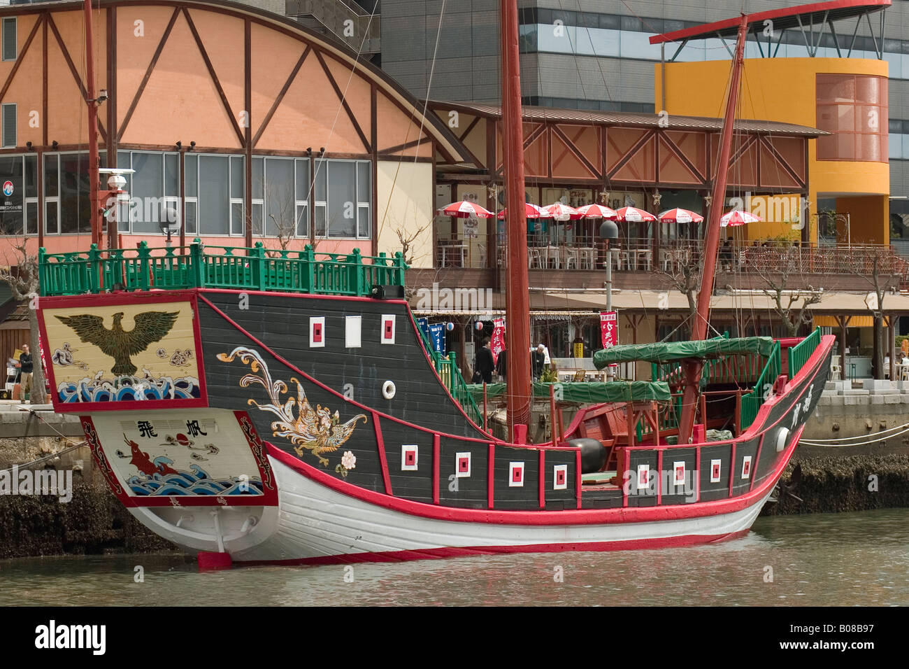
[[[43,9],[52,17],[76,70],[84,72],[85,28],[82,12],[53,11],[53,7]],[[377,189],[377,210],[374,211],[375,220],[379,220],[386,208],[400,213],[413,208],[414,203],[417,203],[418,209],[421,212],[427,209],[431,217],[434,196],[432,164],[425,160],[414,165],[413,158],[432,158],[435,143],[444,145],[448,139],[434,125],[428,122],[421,124],[419,115],[422,108],[415,106],[404,94],[398,93],[395,86],[381,76],[368,71],[362,63],[348,63],[345,56],[338,55],[334,46],[322,45],[317,38],[297,35],[292,26],[278,25],[277,19],[272,21],[262,16],[244,15],[242,9],[232,14],[234,10],[226,7],[209,10],[199,5],[146,5],[130,2],[117,4],[115,9],[116,86],[110,86],[106,81],[109,57],[106,10],[96,10],[94,15],[95,80],[97,89],[107,88],[115,96],[115,99],[108,100],[100,107],[99,121],[105,124],[108,106],[115,106],[118,129],[122,131],[120,148],[173,150],[172,147],[179,140],[184,146],[195,141],[199,152],[243,153],[244,141],[237,137],[235,123],[244,136],[246,119],[251,137],[263,129],[275,98],[285,86],[300,56],[307,46],[312,45],[314,48],[288,86],[274,116],[253,147],[253,152],[295,153],[303,152],[307,147],[318,152],[319,148],[325,147],[327,157],[340,154],[371,158],[374,151],[382,152],[417,137],[432,139],[418,147],[395,149],[390,152],[389,160],[382,161],[385,171],[388,165],[402,165],[402,173],[408,176],[399,179],[394,189]],[[16,11],[21,12],[22,8],[16,8]],[[0,15],[3,14],[3,10],[0,10]],[[18,43],[22,50],[32,26],[40,20],[40,15],[26,13],[16,16]],[[251,108],[246,110],[245,20],[250,16]],[[158,46],[162,44],[172,17],[175,17],[174,25],[140,92],[140,86]],[[202,48],[196,43],[190,20],[209,57],[227,108],[215,85],[215,78],[209,73]],[[7,153],[25,153],[26,141],[31,141],[36,148],[42,147],[45,144],[45,126],[48,144],[55,140],[68,150],[74,146],[84,148],[87,143],[87,113],[83,96],[50,28],[47,30],[48,69],[46,73],[43,71],[43,35],[43,27],[39,26],[27,53],[20,54],[15,77],[2,100],[19,105],[20,146],[5,151]],[[316,56],[317,50],[325,60],[325,67]],[[0,80],[5,81],[13,66],[14,63],[0,63]],[[354,123],[340,103],[340,97],[335,92],[326,69],[345,95],[347,106],[365,135],[366,143],[371,141],[374,134],[372,97],[375,89],[376,147],[366,146],[359,137]],[[48,82],[47,118],[39,117],[36,120],[37,127],[28,127],[28,112],[34,109],[40,114],[43,109],[42,81],[45,74]],[[134,101],[135,109],[124,127],[127,113]],[[104,150],[103,135],[99,135],[99,147]],[[410,167],[405,165],[408,158]],[[387,201],[389,195],[392,196],[391,202]],[[377,236],[377,224],[375,228]],[[85,250],[89,238],[88,234],[48,236],[45,238],[45,248],[48,252]],[[145,237],[126,236],[123,245],[133,248],[143,238]],[[164,245],[163,238],[155,236],[147,239],[155,246]],[[236,237],[205,238],[205,241],[225,246],[243,246],[245,243],[244,238]],[[264,241],[269,247],[277,246],[276,239]],[[303,248],[304,243],[294,242],[292,246]],[[372,255],[373,243],[371,239],[325,239],[319,240],[317,250],[347,253],[353,248],[361,248],[365,255]],[[8,245],[3,245],[3,248],[8,250]],[[36,252],[35,239],[29,240],[29,248],[31,252]],[[15,264],[15,259],[12,264]]]

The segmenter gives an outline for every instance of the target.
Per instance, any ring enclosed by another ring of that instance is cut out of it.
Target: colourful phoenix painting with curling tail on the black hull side
[[[328,407],[317,404],[315,409],[306,398],[306,393],[300,381],[291,378],[296,384],[296,397],[286,401],[281,400],[281,395],[287,392],[287,384],[283,380],[272,380],[271,372],[258,352],[238,346],[230,353],[218,353],[218,360],[233,362],[239,358],[241,362],[249,365],[252,372],[240,380],[241,388],[251,385],[260,385],[265,388],[271,400],[268,404],[260,404],[256,400],[248,400],[249,404],[258,407],[261,411],[268,411],[277,418],[272,422],[272,434],[275,437],[284,437],[295,445],[294,451],[303,456],[305,451],[310,451],[319,460],[323,467],[328,466],[326,453],[337,451],[354,433],[356,424],[362,419],[367,421],[365,414],[357,414],[352,419],[341,422],[337,411],[332,413]],[[342,459],[343,460],[343,459]],[[356,459],[348,458],[342,462],[345,471],[355,467]],[[349,466],[348,466],[349,465]],[[346,475],[346,474],[345,474]]]

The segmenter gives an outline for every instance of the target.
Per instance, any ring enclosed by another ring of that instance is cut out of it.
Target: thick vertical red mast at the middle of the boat
[[[505,337],[508,356],[508,431],[530,422],[530,295],[527,289],[527,219],[524,212],[524,124],[517,3],[500,0],[502,16],[502,136],[508,253],[505,272]]]

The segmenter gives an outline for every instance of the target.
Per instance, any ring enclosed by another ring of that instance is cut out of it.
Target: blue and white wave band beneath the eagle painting
[[[182,379],[139,379],[120,377],[113,380],[66,381],[57,386],[57,399],[65,403],[107,402],[136,400],[194,400],[202,397],[199,380],[193,377]]]

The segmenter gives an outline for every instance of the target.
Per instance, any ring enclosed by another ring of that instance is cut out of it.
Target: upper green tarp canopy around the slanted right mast
[[[717,337],[704,341],[665,341],[655,344],[626,344],[602,349],[594,353],[594,367],[602,370],[611,362],[666,362],[684,358],[714,358],[736,353],[760,353],[769,356],[774,349],[774,340],[770,337],[739,337],[725,339]]]

